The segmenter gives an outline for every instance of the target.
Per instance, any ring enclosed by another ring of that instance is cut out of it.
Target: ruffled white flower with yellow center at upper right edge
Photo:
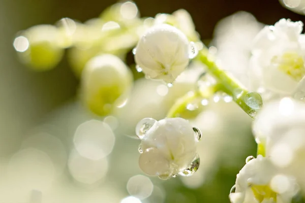
[[[303,23],[281,19],[256,36],[250,61],[251,85],[263,98],[291,96],[305,75]],[[299,87],[301,85],[301,87]]]

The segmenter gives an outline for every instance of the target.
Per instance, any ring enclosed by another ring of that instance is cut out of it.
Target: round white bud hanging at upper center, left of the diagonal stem
[[[188,66],[190,50],[187,37],[179,29],[156,25],[141,37],[135,60],[146,77],[172,83]]]

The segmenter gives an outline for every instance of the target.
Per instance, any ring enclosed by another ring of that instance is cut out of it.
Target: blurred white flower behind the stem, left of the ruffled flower
[[[262,23],[245,11],[220,20],[215,27],[212,45],[217,48],[217,62],[246,86],[249,86],[251,42],[262,27]],[[210,53],[213,52],[211,47]]]

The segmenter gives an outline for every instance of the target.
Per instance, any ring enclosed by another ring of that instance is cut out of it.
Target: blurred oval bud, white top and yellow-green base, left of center
[[[105,116],[124,103],[132,81],[131,71],[118,57],[99,55],[90,59],[85,66],[81,96],[92,112]]]

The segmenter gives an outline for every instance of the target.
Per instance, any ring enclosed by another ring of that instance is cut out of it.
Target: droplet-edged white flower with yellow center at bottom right
[[[268,158],[258,155],[237,174],[229,197],[232,203],[289,203],[296,191],[294,178],[279,173]]]

